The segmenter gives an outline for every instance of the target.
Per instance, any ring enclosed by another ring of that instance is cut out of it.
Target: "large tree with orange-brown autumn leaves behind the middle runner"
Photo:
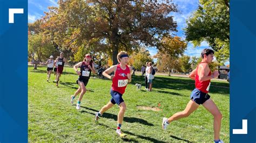
[[[56,44],[77,52],[93,42],[98,45],[93,50],[112,55],[113,64],[119,51],[131,52],[142,44],[157,46],[164,35],[177,31],[170,13],[178,10],[169,2],[60,0],[58,4],[43,19],[44,30]]]

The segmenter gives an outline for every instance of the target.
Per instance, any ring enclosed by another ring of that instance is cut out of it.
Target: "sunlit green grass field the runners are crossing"
[[[46,82],[46,67],[33,70],[29,66],[29,141],[61,141],[61,142],[213,142],[213,117],[203,106],[193,112],[190,117],[173,121],[166,131],[161,129],[164,115],[184,110],[194,89],[194,81],[189,78],[156,76],[153,80],[153,91],[137,91],[135,83],[144,83],[142,76],[132,77],[123,96],[127,105],[122,131],[126,138],[116,134],[118,106],[106,111],[95,124],[94,113],[107,102],[111,95],[111,81],[90,78],[87,92],[81,102],[81,109],[70,104],[72,95],[78,85],[78,75],[72,68],[65,68],[60,77],[59,87],[55,86],[53,74]],[[143,88],[144,89],[143,84]],[[221,139],[229,142],[230,91],[229,84],[224,81],[211,83],[210,95],[217,104],[223,120]],[[77,102],[76,97],[76,102]],[[142,110],[138,106],[158,108],[160,111]]]

